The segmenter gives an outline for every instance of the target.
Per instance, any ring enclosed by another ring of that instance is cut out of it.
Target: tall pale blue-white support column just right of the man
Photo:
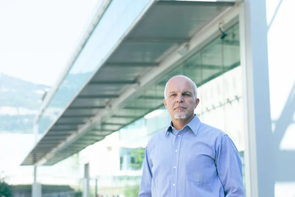
[[[245,98],[246,195],[274,197],[266,0],[244,0],[239,21]]]

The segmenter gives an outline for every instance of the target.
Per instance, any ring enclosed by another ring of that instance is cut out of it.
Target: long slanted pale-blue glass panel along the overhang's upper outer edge
[[[58,92],[40,118],[40,133],[49,127],[89,76],[98,69],[148,2],[149,0],[112,0],[61,83]],[[64,88],[68,89],[69,86],[71,87],[70,91],[65,91]]]

